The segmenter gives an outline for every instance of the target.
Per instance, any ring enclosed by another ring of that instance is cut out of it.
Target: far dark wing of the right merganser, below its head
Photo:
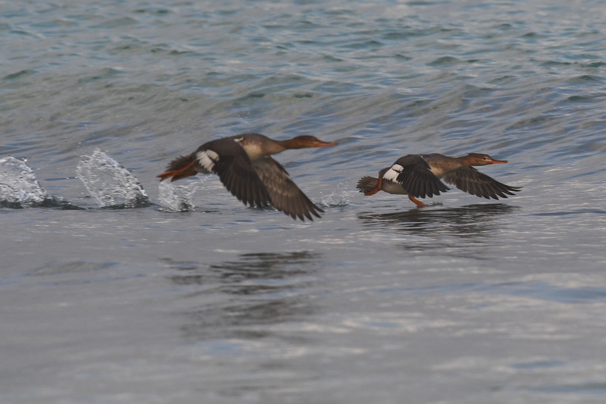
[[[496,179],[487,176],[473,167],[462,167],[452,173],[446,174],[444,180],[453,184],[459,190],[469,194],[485,197],[486,199],[506,198],[507,195],[515,195],[521,188],[510,187],[501,184]]]

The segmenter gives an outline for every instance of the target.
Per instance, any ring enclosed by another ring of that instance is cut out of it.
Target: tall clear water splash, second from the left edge
[[[99,149],[84,156],[76,173],[99,207],[138,208],[150,204],[136,177]]]

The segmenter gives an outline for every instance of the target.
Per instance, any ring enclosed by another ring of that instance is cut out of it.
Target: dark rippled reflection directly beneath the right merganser
[[[499,217],[518,210],[507,204],[481,204],[384,214],[361,213],[358,219],[373,230],[418,237],[406,237],[405,243],[400,245],[405,250],[422,253],[441,248],[448,249],[446,253],[451,256],[482,258],[479,246],[498,234],[503,223]]]

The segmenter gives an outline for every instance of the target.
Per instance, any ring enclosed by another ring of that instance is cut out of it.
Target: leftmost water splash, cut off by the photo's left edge
[[[50,199],[24,161],[13,156],[0,159],[0,206],[29,208]]]

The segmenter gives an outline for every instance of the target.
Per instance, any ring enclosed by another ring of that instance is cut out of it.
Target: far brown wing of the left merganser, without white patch
[[[301,220],[305,220],[304,217],[313,220],[311,214],[320,217],[318,212],[324,212],[299,190],[284,167],[270,156],[254,161],[253,167],[265,184],[271,202],[279,211]]]

